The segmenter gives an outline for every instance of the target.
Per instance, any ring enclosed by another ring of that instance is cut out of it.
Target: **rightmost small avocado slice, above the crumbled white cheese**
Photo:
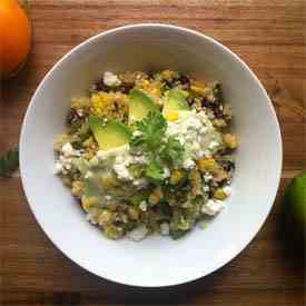
[[[190,107],[184,96],[184,91],[177,88],[169,90],[166,95],[162,113],[172,111],[190,110]]]

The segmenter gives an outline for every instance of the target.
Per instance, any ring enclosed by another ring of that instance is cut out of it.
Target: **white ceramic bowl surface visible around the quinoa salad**
[[[102,71],[174,69],[219,80],[240,138],[233,196],[205,229],[179,240],[150,237],[112,241],[85,220],[53,175],[52,144],[65,130],[70,98],[85,95]],[[103,278],[158,287],[203,277],[231,260],[267,218],[278,188],[282,139],[259,80],[230,50],[199,32],[136,24],[100,33],[66,55],[46,76],[28,108],[20,140],[23,188],[52,243],[71,260]]]

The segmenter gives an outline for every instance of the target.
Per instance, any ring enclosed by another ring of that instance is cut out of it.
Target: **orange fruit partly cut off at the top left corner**
[[[0,78],[24,63],[31,47],[31,24],[17,0],[0,0]]]

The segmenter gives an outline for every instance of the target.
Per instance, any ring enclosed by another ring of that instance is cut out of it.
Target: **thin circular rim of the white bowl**
[[[130,282],[122,282],[121,279],[115,279],[115,278],[110,278],[108,276],[105,275],[100,275],[97,272],[95,272],[91,267],[88,267],[83,264],[80,264],[79,260],[75,260],[72,258],[72,256],[70,254],[67,253],[67,250],[63,250],[61,247],[59,247],[59,244],[57,241],[56,238],[52,237],[52,233],[47,233],[47,230],[45,230],[45,226],[43,226],[43,221],[39,220],[39,217],[36,215],[34,211],[34,205],[31,204],[30,201],[30,195],[27,191],[28,187],[27,187],[27,179],[24,177],[24,167],[27,164],[27,160],[23,156],[23,151],[24,148],[27,146],[26,141],[24,141],[24,135],[26,135],[26,127],[27,127],[27,122],[29,120],[29,113],[31,112],[31,109],[34,106],[34,100],[37,99],[38,92],[42,89],[43,83],[52,76],[53,71],[59,69],[61,63],[68,58],[70,57],[73,52],[79,51],[81,48],[83,48],[86,45],[99,39],[100,37],[106,37],[106,36],[111,36],[113,33],[118,33],[118,32],[124,32],[126,30],[129,29],[137,29],[137,28],[159,28],[159,29],[169,29],[169,30],[175,30],[175,31],[179,31],[182,32],[185,34],[191,34],[191,36],[196,36],[200,39],[204,40],[208,40],[209,42],[216,45],[218,48],[223,49],[223,51],[229,53],[245,70],[247,70],[247,72],[250,75],[251,79],[257,83],[257,86],[259,87],[259,89],[263,91],[267,103],[268,103],[268,108],[270,109],[270,113],[272,113],[272,120],[274,126],[276,127],[276,142],[277,142],[277,151],[278,151],[278,172],[276,175],[276,181],[275,181],[275,191],[273,195],[270,195],[272,197],[272,203],[270,206],[268,207],[267,214],[266,216],[263,216],[260,223],[258,223],[257,225],[257,229],[253,233],[253,235],[249,236],[248,239],[246,239],[246,241],[237,249],[235,249],[235,251],[231,253],[230,258],[226,258],[224,260],[221,260],[221,263],[219,263],[218,265],[214,266],[210,270],[206,272],[206,273],[199,273],[197,276],[187,276],[187,277],[181,277],[179,280],[172,282],[172,283],[167,283],[167,284],[161,284],[161,285],[151,285],[151,284],[138,284],[132,282],[132,279]],[[241,60],[236,53],[234,53],[229,48],[227,48],[226,46],[224,46],[223,43],[218,42],[216,39],[204,34],[197,30],[194,29],[188,29],[185,27],[179,27],[179,26],[174,26],[174,24],[167,24],[167,23],[132,23],[132,24],[127,24],[127,26],[121,26],[121,27],[116,27],[102,32],[99,32],[88,39],[86,39],[85,41],[82,41],[81,43],[77,45],[76,47],[73,47],[70,51],[68,51],[66,55],[63,55],[53,66],[52,68],[47,72],[47,75],[42,78],[42,80],[39,82],[34,93],[31,97],[31,100],[29,102],[29,106],[27,108],[26,115],[23,117],[22,120],[22,127],[21,127],[21,132],[20,132],[20,141],[19,141],[19,148],[20,148],[20,154],[19,154],[19,158],[20,158],[20,177],[21,177],[21,182],[22,182],[22,187],[23,187],[23,191],[27,198],[27,203],[28,206],[30,207],[30,210],[32,213],[32,215],[34,216],[36,221],[38,223],[39,227],[42,229],[42,231],[45,233],[45,235],[49,238],[49,240],[52,243],[52,245],[61,251],[61,254],[63,254],[67,258],[69,258],[71,261],[73,261],[76,265],[80,266],[81,268],[92,273],[93,275],[101,277],[103,279],[107,279],[111,283],[115,284],[120,284],[120,285],[127,285],[127,286],[132,286],[132,287],[151,287],[151,288],[158,288],[158,287],[171,287],[171,286],[177,286],[177,285],[181,285],[181,284],[186,284],[186,283],[191,283],[195,282],[199,278],[203,278],[207,275],[210,275],[211,273],[220,269],[221,267],[224,267],[226,264],[230,263],[233,259],[235,259],[251,241],[253,239],[257,236],[258,231],[263,228],[265,221],[267,220],[272,208],[274,206],[274,201],[279,188],[279,184],[280,184],[280,178],[282,178],[282,167],[283,167],[283,141],[282,141],[282,134],[280,134],[280,128],[279,128],[279,122],[277,120],[277,116],[274,109],[274,106],[270,101],[270,98],[266,91],[266,89],[264,88],[264,86],[261,85],[261,82],[259,81],[259,79],[257,78],[257,76],[250,70],[250,68],[247,66],[247,63]]]

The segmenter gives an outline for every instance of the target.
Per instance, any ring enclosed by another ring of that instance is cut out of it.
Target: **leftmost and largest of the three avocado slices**
[[[116,120],[105,122],[97,116],[88,118],[89,127],[99,144],[101,150],[110,150],[128,144],[131,139],[130,129]]]

